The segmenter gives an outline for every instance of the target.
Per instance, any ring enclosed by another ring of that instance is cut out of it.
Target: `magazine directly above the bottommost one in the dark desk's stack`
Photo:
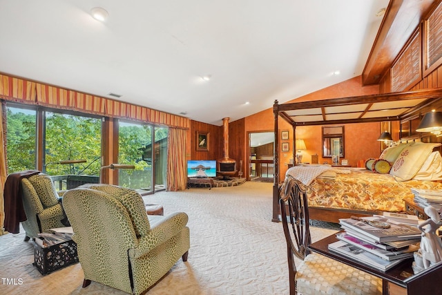
[[[352,244],[356,247],[360,247],[361,249],[368,251],[376,256],[379,256],[384,260],[390,260],[390,261],[401,258],[413,257],[414,251],[417,251],[419,249],[419,247],[413,247],[413,246],[406,247],[400,250],[380,249],[369,242],[365,242],[361,239],[358,239],[346,233],[336,234],[336,238],[338,238],[339,240],[343,240],[344,242],[347,242],[349,244]]]

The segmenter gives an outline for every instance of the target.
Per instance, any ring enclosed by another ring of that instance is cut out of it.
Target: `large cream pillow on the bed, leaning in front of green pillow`
[[[414,175],[421,170],[423,163],[432,153],[434,147],[441,144],[427,144],[414,142],[401,151],[390,170],[390,174],[396,176],[396,180],[405,181],[414,178]]]

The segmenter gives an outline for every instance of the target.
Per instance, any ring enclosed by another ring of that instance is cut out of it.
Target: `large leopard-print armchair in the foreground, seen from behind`
[[[186,213],[147,216],[133,189],[84,184],[64,194],[63,206],[84,271],[93,280],[140,294],[162,278],[190,247]]]

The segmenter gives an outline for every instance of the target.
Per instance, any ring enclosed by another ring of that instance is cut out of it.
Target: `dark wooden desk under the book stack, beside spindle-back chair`
[[[375,267],[369,267],[352,260],[340,254],[329,251],[328,245],[336,242],[338,239],[336,235],[328,236],[323,240],[314,242],[309,245],[309,249],[318,254],[322,254],[329,258],[345,263],[356,269],[361,269],[363,272],[382,278],[383,280],[383,294],[388,295],[421,295],[421,294],[440,294],[440,277],[442,273],[442,263],[436,265],[432,269],[427,269],[419,274],[414,274],[412,269],[413,258],[407,259],[388,270],[381,272]]]

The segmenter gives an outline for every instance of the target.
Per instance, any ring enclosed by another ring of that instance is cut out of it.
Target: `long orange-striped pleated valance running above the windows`
[[[186,117],[8,75],[0,75],[0,96],[14,102],[38,104],[182,129],[190,128],[190,120]]]

